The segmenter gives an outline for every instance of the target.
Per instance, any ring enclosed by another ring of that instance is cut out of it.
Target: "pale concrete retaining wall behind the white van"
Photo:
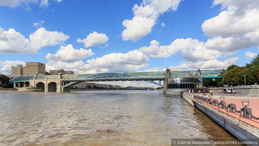
[[[223,93],[224,88],[233,88],[237,91],[237,94],[231,94],[231,96],[259,97],[259,86],[255,87],[255,85],[218,87],[210,89],[212,89],[214,93]]]

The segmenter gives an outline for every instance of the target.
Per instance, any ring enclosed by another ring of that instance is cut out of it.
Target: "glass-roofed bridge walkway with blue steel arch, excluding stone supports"
[[[222,70],[194,70],[194,71],[170,71],[171,78],[182,77],[202,77],[202,78],[222,78],[220,73]],[[125,72],[125,73],[99,73],[99,74],[66,74],[62,75],[61,81],[63,87],[73,86],[80,82],[98,82],[98,81],[146,81],[164,86],[161,81],[165,80],[166,72]],[[59,75],[43,75],[43,76],[18,76],[9,81],[10,83],[23,83],[30,80],[58,80]],[[157,81],[157,82],[155,82]],[[158,83],[159,82],[159,83]],[[15,86],[14,86],[15,87]]]

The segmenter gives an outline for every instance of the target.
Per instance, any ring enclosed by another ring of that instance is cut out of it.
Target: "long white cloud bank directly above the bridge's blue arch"
[[[58,53],[57,53],[58,54]],[[134,57],[132,57],[134,56]],[[127,53],[111,53],[98,58],[76,62],[49,60],[46,71],[61,69],[74,71],[75,74],[95,74],[102,72],[134,72],[148,66],[149,58],[140,50]]]

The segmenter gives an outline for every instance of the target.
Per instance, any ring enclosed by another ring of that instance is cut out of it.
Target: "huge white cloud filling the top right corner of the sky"
[[[205,35],[211,38],[205,43],[207,49],[235,52],[259,46],[259,1],[214,0],[213,6],[221,4],[222,12],[202,24]]]

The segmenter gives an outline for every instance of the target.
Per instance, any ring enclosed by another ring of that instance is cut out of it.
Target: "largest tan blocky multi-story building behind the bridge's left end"
[[[45,74],[45,64],[39,62],[26,62],[23,74]]]

